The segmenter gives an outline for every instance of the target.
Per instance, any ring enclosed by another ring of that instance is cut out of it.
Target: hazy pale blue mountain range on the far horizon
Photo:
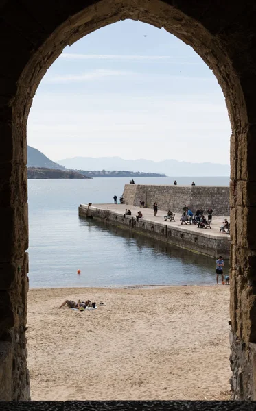
[[[141,171],[144,173],[161,173],[172,177],[196,176],[229,176],[230,166],[227,164],[215,164],[211,162],[191,163],[177,160],[124,160],[120,157],[74,157],[59,160],[58,163],[67,169],[76,170],[127,170]]]

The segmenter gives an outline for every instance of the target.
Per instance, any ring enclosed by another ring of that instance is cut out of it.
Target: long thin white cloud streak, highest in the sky
[[[119,60],[119,61],[143,61],[143,60],[165,60],[172,64],[201,65],[203,62],[189,62],[182,57],[172,57],[171,55],[121,55],[121,54],[73,54],[62,53],[60,58],[65,60]]]

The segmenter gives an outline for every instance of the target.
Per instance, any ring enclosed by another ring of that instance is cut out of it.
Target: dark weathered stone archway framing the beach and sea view
[[[0,6],[1,279],[0,399],[27,399],[28,247],[26,124],[36,88],[66,45],[132,18],[165,27],[213,70],[231,120],[231,346],[233,396],[255,397],[255,5],[211,0],[27,0]],[[232,8],[231,8],[232,7]]]

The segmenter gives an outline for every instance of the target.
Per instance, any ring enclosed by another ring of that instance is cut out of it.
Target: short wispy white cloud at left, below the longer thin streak
[[[105,70],[98,69],[95,71],[90,71],[89,73],[83,73],[80,75],[59,75],[56,77],[50,77],[47,79],[47,83],[66,83],[66,82],[89,82],[91,80],[97,80],[104,77],[112,76],[124,76],[124,75],[134,75],[131,71],[118,71],[118,70]]]

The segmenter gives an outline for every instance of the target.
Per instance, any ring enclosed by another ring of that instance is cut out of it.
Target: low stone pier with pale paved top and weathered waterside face
[[[137,214],[139,208],[129,206],[134,216],[124,217],[125,208],[126,206],[123,204],[96,204],[95,206],[80,204],[78,212],[80,216],[100,219],[106,225],[129,229],[206,256],[216,258],[221,254],[224,258],[229,258],[230,236],[218,233],[224,217],[214,217],[213,229],[206,230],[197,228],[196,225],[181,225],[179,214],[175,223],[163,221],[163,215],[166,214],[163,211],[159,211],[156,219],[152,216],[153,212],[150,209],[143,209],[143,219],[136,221],[135,214]]]

